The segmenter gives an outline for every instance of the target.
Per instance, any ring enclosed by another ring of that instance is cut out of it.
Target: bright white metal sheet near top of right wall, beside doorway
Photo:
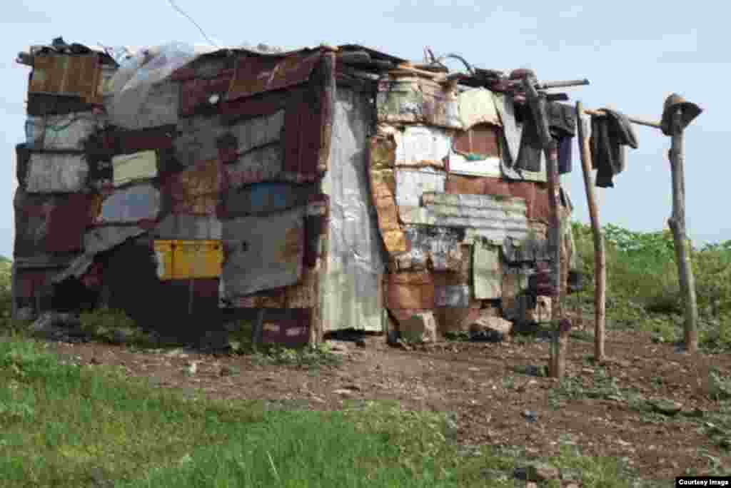
[[[449,159],[452,137],[444,129],[428,126],[406,126],[394,131],[396,166],[432,165],[444,168]]]

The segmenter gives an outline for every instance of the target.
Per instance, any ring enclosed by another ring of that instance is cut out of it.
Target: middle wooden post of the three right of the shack
[[[607,256],[604,249],[604,237],[599,225],[599,205],[594,195],[594,178],[591,178],[591,150],[581,120],[583,107],[576,102],[576,122],[579,134],[579,153],[581,168],[584,174],[586,201],[591,218],[591,233],[594,235],[594,360],[605,359],[605,319],[607,315]]]

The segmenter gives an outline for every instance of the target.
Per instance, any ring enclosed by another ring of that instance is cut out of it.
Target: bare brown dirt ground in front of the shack
[[[591,388],[602,369],[621,390],[648,399],[675,400],[681,414],[647,415],[618,399],[562,397],[556,380],[515,373],[516,366],[545,365],[547,342],[436,343],[413,351],[387,346],[382,336],[365,345],[334,341],[338,366],[306,368],[261,365],[246,356],[214,356],[193,351],[135,352],[100,343],[57,343],[81,365],[118,365],[130,375],[146,376],[162,387],[196,389],[208,397],[295,401],[318,410],[341,408],[344,400],[398,400],[406,408],[456,413],[458,440],[468,445],[525,446],[542,457],[570,438],[583,453],[628,458],[645,479],[673,479],[686,468],[709,473],[708,457],[730,464],[692,416],[719,410],[705,394],[708,368],[731,372],[728,355],[689,355],[668,344],[652,343],[642,332],[610,331],[611,359],[593,365],[593,345],[572,340],[567,375]],[[196,363],[196,372],[189,365]],[[653,379],[654,378],[654,379]]]

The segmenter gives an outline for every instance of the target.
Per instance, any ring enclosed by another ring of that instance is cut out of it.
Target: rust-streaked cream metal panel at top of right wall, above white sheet
[[[378,83],[376,110],[379,122],[462,128],[454,89],[425,78],[382,77]]]

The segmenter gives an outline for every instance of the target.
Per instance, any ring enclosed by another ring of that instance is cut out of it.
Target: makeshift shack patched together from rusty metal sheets
[[[550,196],[521,72],[454,76],[358,45],[56,39],[18,61],[16,313],[107,306],[186,337],[258,317],[287,344],[550,316]],[[573,109],[548,107],[567,172]]]

